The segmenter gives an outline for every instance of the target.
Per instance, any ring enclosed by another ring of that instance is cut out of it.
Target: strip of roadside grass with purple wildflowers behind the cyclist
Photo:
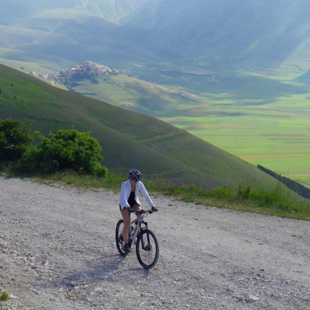
[[[36,182],[62,183],[94,191],[107,188],[118,193],[124,176],[114,172],[110,172],[105,178],[57,173],[32,179]],[[245,180],[244,184],[240,184],[237,189],[221,185],[188,185],[177,179],[173,182],[164,179],[150,179],[144,181],[144,184],[152,195],[169,196],[175,200],[194,202],[197,205],[310,220],[310,200],[294,194],[284,188],[280,182],[269,186],[264,184],[257,188],[253,187],[252,182]]]

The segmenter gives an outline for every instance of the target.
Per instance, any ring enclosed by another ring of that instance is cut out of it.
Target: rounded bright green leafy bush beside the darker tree
[[[55,173],[71,170],[83,175],[104,176],[108,169],[101,166],[103,157],[99,142],[89,132],[79,132],[73,128],[59,130],[49,137],[35,134],[40,142],[24,154],[19,163],[23,172]]]

